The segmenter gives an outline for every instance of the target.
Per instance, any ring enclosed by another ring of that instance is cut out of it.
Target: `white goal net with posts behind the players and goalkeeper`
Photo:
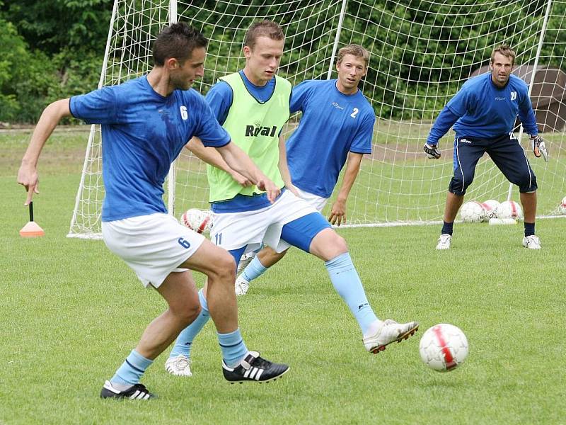
[[[422,145],[447,101],[473,74],[486,72],[493,47],[517,53],[515,73],[530,86],[550,162],[533,157],[516,135],[538,179],[538,214],[553,215],[566,195],[566,0],[116,0],[100,86],[120,84],[151,69],[151,42],[171,22],[186,21],[209,38],[201,94],[221,76],[243,68],[242,41],[254,21],[271,19],[286,33],[279,75],[292,84],[335,78],[335,54],[347,44],[370,52],[360,89],[376,113],[373,153],[365,155],[348,200],[352,225],[437,222],[453,172],[454,133],[426,159]],[[284,130],[291,134],[300,115]],[[99,237],[104,197],[100,130],[95,125],[76,197],[69,236]],[[168,177],[166,204],[180,215],[209,208],[206,169],[188,151]],[[338,186],[340,186],[340,182]],[[519,200],[495,164],[480,159],[467,200]]]

